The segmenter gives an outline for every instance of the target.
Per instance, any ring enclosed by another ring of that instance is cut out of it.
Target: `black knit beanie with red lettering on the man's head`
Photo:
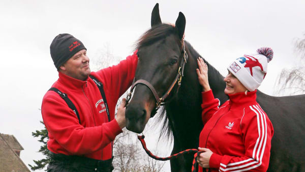
[[[56,69],[58,70],[65,62],[67,62],[75,53],[85,49],[85,46],[80,40],[74,38],[70,34],[57,35],[51,45],[50,52]]]

